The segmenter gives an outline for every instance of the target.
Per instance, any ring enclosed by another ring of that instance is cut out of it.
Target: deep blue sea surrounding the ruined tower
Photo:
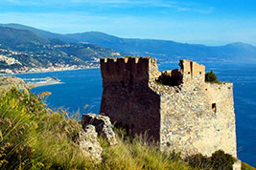
[[[238,157],[256,167],[256,63],[208,62],[221,81],[234,83]],[[159,70],[179,68],[177,63],[162,63]],[[99,113],[103,93],[100,69],[17,74],[21,78],[53,76],[63,84],[37,87],[33,93],[51,92],[47,104],[52,109],[64,107],[70,115]],[[84,107],[88,105],[88,107]]]

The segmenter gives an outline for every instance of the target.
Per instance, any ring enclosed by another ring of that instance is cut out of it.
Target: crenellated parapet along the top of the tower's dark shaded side
[[[101,71],[104,82],[148,82],[160,74],[151,57],[102,58]]]

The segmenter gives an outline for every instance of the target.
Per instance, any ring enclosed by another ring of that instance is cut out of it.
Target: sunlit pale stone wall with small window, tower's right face
[[[232,84],[151,88],[161,95],[160,146],[183,156],[223,150],[237,157]],[[207,93],[205,89],[207,88]],[[229,89],[230,88],[230,89]],[[216,103],[216,111],[212,109]]]

